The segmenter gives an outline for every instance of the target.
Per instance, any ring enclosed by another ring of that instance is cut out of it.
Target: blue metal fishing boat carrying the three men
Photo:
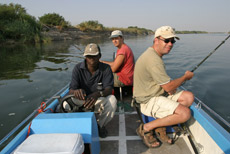
[[[1,153],[13,153],[27,140],[28,130],[30,130],[29,136],[81,134],[87,149],[84,151],[85,154],[230,154],[230,133],[227,131],[230,128],[229,123],[198,98],[190,107],[192,118],[178,125],[179,131],[173,129],[168,131],[169,135],[176,138],[173,145],[162,144],[159,148],[147,148],[136,134],[141,119],[137,111],[131,107],[132,93],[125,87],[122,89],[120,88],[120,92],[119,89],[115,89],[115,95],[117,94],[119,100],[118,108],[114,119],[106,126],[108,137],[98,137],[93,112],[52,113],[49,109],[55,110],[59,104],[58,98],[52,97],[46,102],[48,106],[42,113],[40,113],[41,107],[38,108],[0,141]],[[63,98],[68,92],[67,85],[54,96]],[[214,119],[218,119],[222,125]]]

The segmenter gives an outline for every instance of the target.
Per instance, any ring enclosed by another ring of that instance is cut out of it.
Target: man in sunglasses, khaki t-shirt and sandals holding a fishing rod
[[[151,148],[160,143],[153,137],[153,130],[162,142],[173,144],[173,139],[166,135],[165,126],[183,123],[190,118],[189,106],[194,96],[189,91],[177,88],[193,73],[186,71],[180,78],[171,80],[165,70],[162,57],[168,54],[176,40],[175,31],[170,26],[162,26],[155,32],[154,44],[137,60],[134,69],[134,98],[140,103],[141,112],[156,120],[141,124],[136,130],[144,143]]]

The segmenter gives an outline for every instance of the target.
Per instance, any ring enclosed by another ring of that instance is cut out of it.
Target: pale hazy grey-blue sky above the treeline
[[[230,0],[0,0],[20,4],[36,17],[57,13],[75,26],[96,20],[105,27],[138,26],[155,31],[230,31]]]

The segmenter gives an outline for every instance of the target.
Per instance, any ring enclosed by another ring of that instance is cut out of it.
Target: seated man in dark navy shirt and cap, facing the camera
[[[90,43],[84,51],[85,60],[76,64],[72,72],[69,94],[74,94],[74,101],[83,102],[86,109],[94,109],[99,136],[105,138],[105,125],[113,118],[117,108],[117,100],[112,95],[113,73],[109,65],[101,63],[100,47]],[[102,90],[98,90],[102,83]]]

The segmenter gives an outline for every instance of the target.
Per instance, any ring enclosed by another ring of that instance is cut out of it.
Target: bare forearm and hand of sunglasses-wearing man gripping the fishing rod
[[[186,71],[185,74],[183,76],[181,76],[180,78],[171,80],[170,82],[161,85],[161,87],[168,92],[169,94],[173,94],[175,93],[176,89],[182,84],[184,83],[186,80],[190,80],[193,77],[193,72],[190,71]]]

